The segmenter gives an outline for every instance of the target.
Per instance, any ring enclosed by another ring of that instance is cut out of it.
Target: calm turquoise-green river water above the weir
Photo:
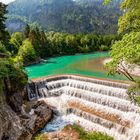
[[[107,70],[103,65],[103,61],[108,57],[109,54],[106,52],[54,57],[47,59],[46,62],[28,66],[26,67],[26,71],[29,78],[58,74],[78,74],[98,78],[124,79],[124,77],[120,75],[107,75]]]

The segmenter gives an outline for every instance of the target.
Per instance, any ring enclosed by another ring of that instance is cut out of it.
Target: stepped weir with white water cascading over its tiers
[[[76,123],[115,140],[140,140],[140,107],[129,100],[128,86],[62,75],[36,80],[28,85],[27,92],[29,100],[44,100],[59,112],[48,127]]]

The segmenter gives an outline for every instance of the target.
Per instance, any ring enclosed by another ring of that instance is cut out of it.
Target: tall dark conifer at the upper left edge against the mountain
[[[6,5],[0,2],[0,41],[2,42],[2,44],[4,45],[8,45],[9,44],[9,33],[5,30],[6,26],[4,24],[6,18],[5,18],[5,14],[7,13],[6,11]]]

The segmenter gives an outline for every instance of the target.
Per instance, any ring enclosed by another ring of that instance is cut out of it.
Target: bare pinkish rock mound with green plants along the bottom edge
[[[67,125],[58,132],[39,134],[33,140],[114,140],[112,137],[100,132],[87,132],[81,126]]]

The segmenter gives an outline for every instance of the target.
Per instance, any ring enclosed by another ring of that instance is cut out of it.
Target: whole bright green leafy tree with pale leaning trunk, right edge
[[[140,1],[124,0],[121,10],[124,13],[119,19],[118,32],[125,35],[112,46],[112,61],[107,66],[111,73],[121,73],[134,82],[128,89],[128,95],[133,102],[137,102],[140,101],[140,80],[135,79],[128,68],[136,64],[140,66]]]

